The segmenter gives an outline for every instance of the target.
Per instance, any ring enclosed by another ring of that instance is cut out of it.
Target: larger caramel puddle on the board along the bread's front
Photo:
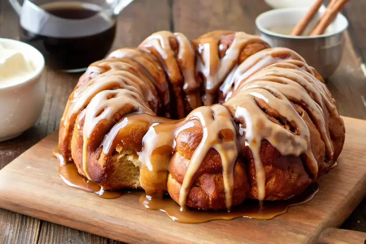
[[[147,209],[160,210],[169,215],[173,221],[193,224],[203,223],[216,219],[230,220],[239,217],[247,217],[254,219],[272,219],[278,215],[287,212],[291,206],[303,204],[309,202],[314,198],[315,194],[319,191],[318,185],[311,184],[300,195],[293,196],[286,200],[277,201],[264,201],[263,206],[260,207],[258,201],[246,200],[238,206],[232,207],[231,211],[225,210],[198,210],[187,209],[181,211],[179,205],[171,198],[151,198],[143,194],[140,197],[139,202],[143,204]]]

